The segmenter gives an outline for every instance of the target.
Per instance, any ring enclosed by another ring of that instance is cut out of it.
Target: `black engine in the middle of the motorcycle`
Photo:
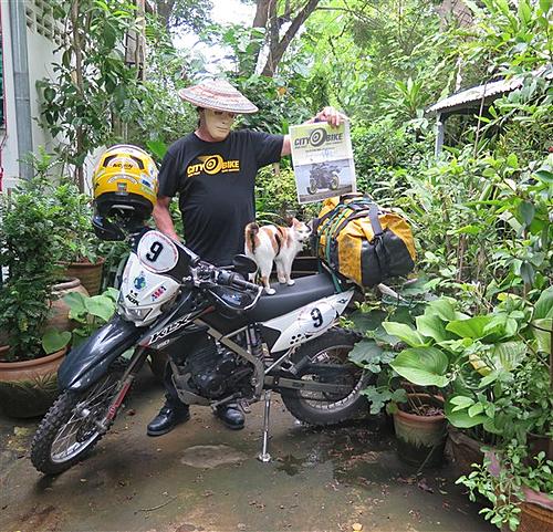
[[[200,350],[187,357],[186,365],[191,374],[189,384],[202,397],[221,399],[238,390],[243,396],[252,392],[251,365],[225,347]]]

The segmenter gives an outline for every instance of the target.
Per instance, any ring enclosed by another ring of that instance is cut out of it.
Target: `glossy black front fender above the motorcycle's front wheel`
[[[58,371],[59,388],[81,390],[94,384],[143,332],[144,327],[115,315],[88,340],[70,351]]]

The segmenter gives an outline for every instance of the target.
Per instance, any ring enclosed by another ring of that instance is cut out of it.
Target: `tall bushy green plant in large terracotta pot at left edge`
[[[0,405],[6,414],[43,414],[56,395],[62,346],[43,342],[59,277],[58,207],[44,176],[23,181],[0,200],[0,259],[8,279],[0,288]]]

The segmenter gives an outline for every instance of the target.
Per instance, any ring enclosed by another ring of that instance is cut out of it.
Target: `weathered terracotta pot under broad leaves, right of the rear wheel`
[[[427,394],[408,394],[409,399],[424,405],[444,407],[444,400]],[[407,404],[399,404],[394,413],[399,458],[420,468],[439,466],[444,461],[446,446],[446,416],[419,416],[406,411]]]

